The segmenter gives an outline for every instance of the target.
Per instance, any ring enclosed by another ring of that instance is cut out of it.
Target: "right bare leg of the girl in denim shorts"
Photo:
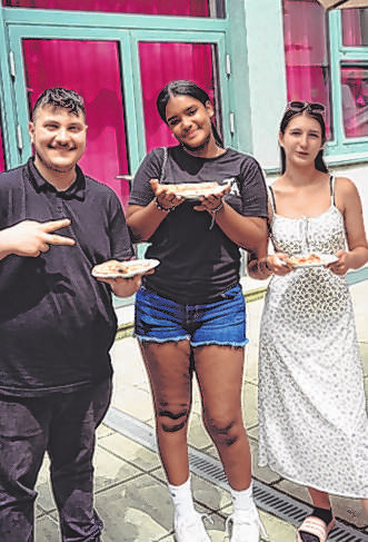
[[[251,482],[251,459],[241,412],[243,348],[201,346],[195,348],[195,361],[205,425],[230,486],[246,490]]]

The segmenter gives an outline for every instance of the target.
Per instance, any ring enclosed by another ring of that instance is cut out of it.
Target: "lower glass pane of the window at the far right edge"
[[[368,136],[368,66],[341,68],[341,97],[345,135]]]

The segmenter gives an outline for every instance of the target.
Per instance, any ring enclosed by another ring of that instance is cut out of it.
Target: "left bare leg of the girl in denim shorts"
[[[190,345],[188,341],[163,344],[145,342],[141,351],[152,390],[162,465],[169,483],[181,485],[189,477]]]

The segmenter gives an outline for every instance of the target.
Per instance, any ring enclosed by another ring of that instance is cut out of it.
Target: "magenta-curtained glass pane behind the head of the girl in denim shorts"
[[[220,101],[215,91],[215,46],[210,43],[141,42],[139,43],[139,55],[148,150],[176,144],[171,131],[162,122],[156,109],[159,91],[173,79],[190,79],[208,91],[217,111],[217,126],[220,128]]]

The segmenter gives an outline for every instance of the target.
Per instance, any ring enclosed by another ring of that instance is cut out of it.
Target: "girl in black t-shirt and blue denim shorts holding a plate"
[[[251,496],[241,413],[248,339],[239,247],[255,250],[267,237],[265,180],[253,158],[223,148],[211,121],[212,104],[196,83],[171,81],[157,107],[179,145],[145,158],[127,221],[136,240],[150,243],[147,256],[160,260],[137,294],[135,334],[150,377],[176,538],[210,540],[195,511],[189,479],[187,430],[195,372],[203,422],[230,484],[230,540],[258,542],[262,525]],[[166,187],[223,180],[222,188],[197,200]]]

